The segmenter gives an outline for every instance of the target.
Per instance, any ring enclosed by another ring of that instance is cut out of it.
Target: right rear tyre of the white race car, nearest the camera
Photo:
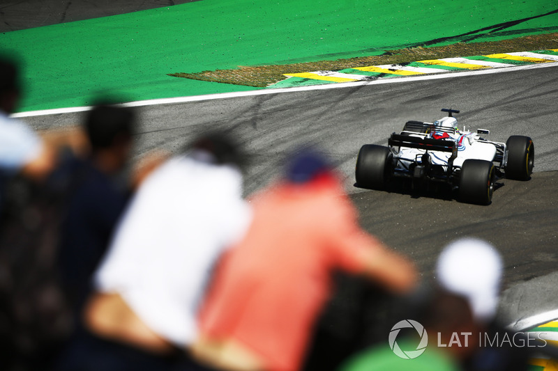
[[[491,161],[466,159],[461,166],[459,197],[462,202],[488,205],[494,191],[495,166]]]

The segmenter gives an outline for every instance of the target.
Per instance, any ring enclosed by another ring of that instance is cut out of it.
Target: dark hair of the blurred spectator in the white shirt
[[[199,136],[190,145],[192,150],[207,152],[215,164],[232,164],[243,168],[246,166],[246,153],[241,150],[239,143],[225,132],[212,132]]]

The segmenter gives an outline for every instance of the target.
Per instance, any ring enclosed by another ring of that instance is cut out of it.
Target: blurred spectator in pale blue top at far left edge
[[[49,370],[71,330],[56,267],[66,184],[58,165],[80,136],[39,136],[10,118],[19,82],[18,63],[0,58],[0,369]]]

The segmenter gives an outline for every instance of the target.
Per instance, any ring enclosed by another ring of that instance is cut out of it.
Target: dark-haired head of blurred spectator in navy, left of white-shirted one
[[[87,114],[85,129],[93,151],[109,148],[116,139],[131,139],[135,115],[127,107],[98,104]]]

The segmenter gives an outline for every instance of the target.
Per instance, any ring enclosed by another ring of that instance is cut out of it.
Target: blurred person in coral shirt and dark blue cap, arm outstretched
[[[295,371],[334,269],[405,293],[413,265],[365,233],[326,158],[294,155],[285,177],[252,198],[254,220],[227,253],[201,313],[196,356],[223,370]]]

